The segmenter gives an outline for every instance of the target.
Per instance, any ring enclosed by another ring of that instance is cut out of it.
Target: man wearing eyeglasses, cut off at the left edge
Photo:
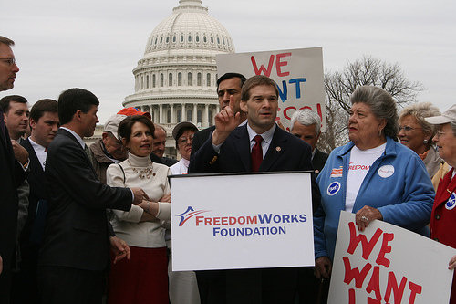
[[[13,89],[16,73],[15,55],[11,49],[13,40],[0,36],[0,91]],[[3,118],[3,110],[0,117]],[[17,186],[24,182],[26,173],[16,162],[13,146],[5,126],[0,120],[0,303],[9,303],[11,289],[11,265],[14,261],[17,227]]]

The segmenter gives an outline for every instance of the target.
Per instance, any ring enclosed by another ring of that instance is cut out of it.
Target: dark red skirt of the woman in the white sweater
[[[130,250],[130,260],[111,264],[108,303],[169,304],[166,247]]]

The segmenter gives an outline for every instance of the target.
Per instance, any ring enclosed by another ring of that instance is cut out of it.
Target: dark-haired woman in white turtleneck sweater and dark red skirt
[[[132,205],[129,212],[113,210],[111,225],[130,246],[130,260],[112,265],[109,304],[168,304],[165,222],[170,220],[170,169],[150,161],[153,123],[144,116],[129,116],[119,123],[119,138],[129,151],[128,159],[111,164],[107,183],[117,187],[140,187],[148,201]]]

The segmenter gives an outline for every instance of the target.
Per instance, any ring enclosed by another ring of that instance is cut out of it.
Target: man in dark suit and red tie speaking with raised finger
[[[240,106],[247,113],[247,123],[238,127],[241,115],[233,111],[232,99],[230,106],[215,116],[215,130],[193,155],[189,173],[312,170],[310,146],[275,125],[278,90],[272,79],[265,76],[247,79]],[[312,189],[316,207],[319,192],[315,179]],[[235,189],[227,185],[227,191]],[[198,271],[197,278],[202,304],[291,304],[295,298],[297,270],[288,267]]]

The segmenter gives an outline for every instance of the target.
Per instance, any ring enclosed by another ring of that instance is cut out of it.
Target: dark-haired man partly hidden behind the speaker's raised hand
[[[234,111],[241,115],[241,123],[247,118],[245,113],[240,109],[241,89],[243,88],[245,77],[238,73],[225,73],[217,79],[217,96],[219,97],[220,110],[229,105],[230,99],[234,101]],[[197,152],[202,144],[207,141],[209,135],[215,130],[215,126],[198,131],[193,136],[192,155]]]

